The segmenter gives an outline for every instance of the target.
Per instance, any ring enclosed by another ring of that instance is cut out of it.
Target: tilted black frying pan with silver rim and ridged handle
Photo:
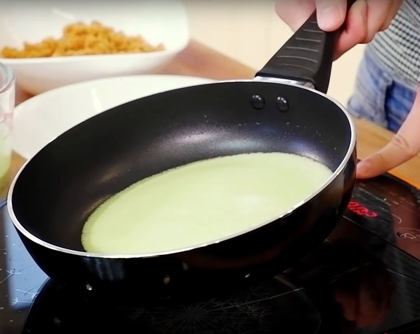
[[[355,179],[352,118],[325,95],[336,36],[319,29],[314,13],[254,80],[143,97],[43,147],[8,193],[13,224],[39,267],[92,297],[189,299],[253,284],[306,255],[336,226]],[[169,168],[249,152],[304,155],[333,175],[286,215],[205,245],[154,254],[84,251],[84,222],[111,195]]]

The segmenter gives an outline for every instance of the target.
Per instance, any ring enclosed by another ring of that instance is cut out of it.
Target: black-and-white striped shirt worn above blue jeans
[[[388,29],[367,45],[395,79],[417,89],[420,82],[420,0],[404,0]]]

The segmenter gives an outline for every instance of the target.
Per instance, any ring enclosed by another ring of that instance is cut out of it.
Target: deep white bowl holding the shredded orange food
[[[110,76],[143,74],[169,62],[189,42],[186,9],[181,0],[19,0],[0,8],[0,49],[24,42],[59,38],[63,27],[100,21],[127,35],[142,35],[165,50],[118,55],[47,58],[1,58],[16,74],[21,89],[39,94],[67,84]]]

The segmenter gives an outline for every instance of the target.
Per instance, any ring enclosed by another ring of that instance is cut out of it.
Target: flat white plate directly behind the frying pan
[[[175,75],[139,75],[97,79],[56,88],[15,109],[12,146],[28,159],[64,131],[89,117],[139,97],[211,79]]]

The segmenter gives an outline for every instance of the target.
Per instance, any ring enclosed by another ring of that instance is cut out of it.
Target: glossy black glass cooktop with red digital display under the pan
[[[339,225],[300,263],[221,299],[136,307],[81,299],[37,267],[5,207],[0,250],[1,334],[420,333],[420,191],[391,176],[358,183]]]

